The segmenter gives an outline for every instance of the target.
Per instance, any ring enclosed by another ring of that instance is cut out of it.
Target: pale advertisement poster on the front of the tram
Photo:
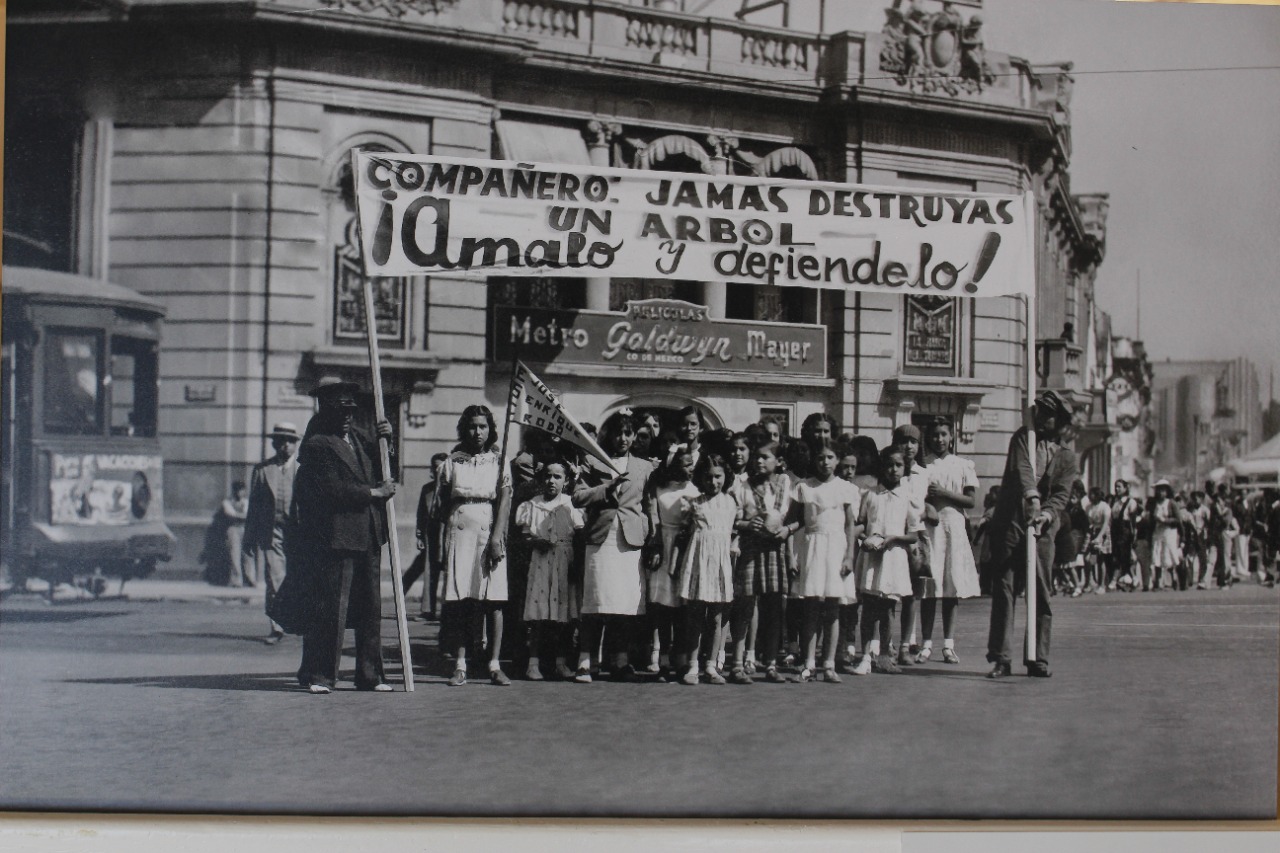
[[[138,524],[159,519],[161,457],[138,453],[52,453],[50,521]]]

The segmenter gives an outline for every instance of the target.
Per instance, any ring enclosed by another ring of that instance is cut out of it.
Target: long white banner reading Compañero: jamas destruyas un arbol
[[[1029,195],[353,151],[369,275],[1033,287]]]

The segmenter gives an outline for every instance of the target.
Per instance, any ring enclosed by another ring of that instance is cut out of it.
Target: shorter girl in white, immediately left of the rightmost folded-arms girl
[[[858,555],[858,594],[863,599],[863,658],[854,675],[868,675],[872,662],[882,672],[897,672],[890,654],[893,607],[911,594],[908,549],[919,540],[922,521],[902,484],[906,452],[891,444],[881,453],[879,487],[863,497],[858,516],[861,549]],[[879,637],[876,637],[877,629]]]

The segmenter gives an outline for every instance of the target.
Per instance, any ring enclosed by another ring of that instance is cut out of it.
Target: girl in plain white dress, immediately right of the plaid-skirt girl
[[[836,651],[840,646],[840,606],[858,598],[854,573],[855,525],[861,494],[856,485],[836,476],[840,464],[831,439],[815,439],[809,461],[813,476],[796,487],[788,526],[804,529],[796,546],[799,574],[791,596],[803,599],[800,644],[805,663],[800,681],[813,681],[817,669],[818,628],[826,638],[822,676],[838,683]]]

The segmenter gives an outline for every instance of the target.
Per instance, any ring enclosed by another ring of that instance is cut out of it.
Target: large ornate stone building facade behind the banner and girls
[[[168,306],[160,433],[179,564],[192,561],[228,483],[264,455],[270,424],[307,420],[319,378],[367,387],[356,146],[1032,190],[1041,383],[1105,420],[1110,346],[1096,343],[1093,280],[1106,197],[1070,193],[1069,65],[988,50],[979,3],[895,3],[879,31],[826,35],[671,5],[10,4],[5,261],[105,277]],[[445,275],[375,289],[406,496],[430,455],[452,446],[466,405],[503,407],[509,365],[497,319],[513,309],[621,313],[680,300],[705,306],[709,321],[782,323],[826,342],[824,364],[792,373],[532,365],[584,420],[692,402],[714,425],[773,415],[795,432],[826,410],[883,442],[897,424],[945,416],[984,491],[1020,424],[1016,298]],[[1108,435],[1084,434],[1094,447]]]

